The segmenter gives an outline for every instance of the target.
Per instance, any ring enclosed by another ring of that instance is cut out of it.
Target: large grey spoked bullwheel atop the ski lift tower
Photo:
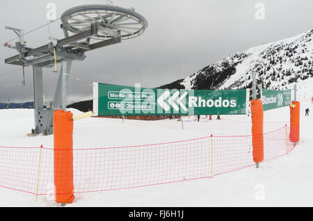
[[[109,5],[85,5],[66,10],[61,16],[63,28],[72,33],[88,31],[92,24],[97,24],[99,33],[92,39],[104,40],[117,38],[122,40],[135,38],[147,28],[145,17],[134,9]]]

